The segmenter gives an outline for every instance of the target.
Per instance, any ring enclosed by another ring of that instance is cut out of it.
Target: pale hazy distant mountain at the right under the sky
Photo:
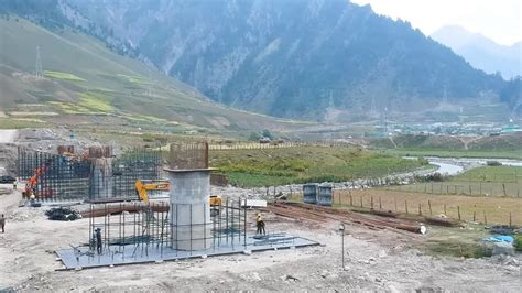
[[[500,73],[505,79],[522,76],[522,42],[505,46],[458,25],[446,25],[429,35],[486,73]]]

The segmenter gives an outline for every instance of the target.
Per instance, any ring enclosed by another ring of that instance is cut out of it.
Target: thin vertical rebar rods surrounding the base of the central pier
[[[127,257],[142,258],[149,253],[163,257],[165,248],[188,253],[196,250],[216,251],[222,247],[244,249],[248,245],[248,220],[247,209],[240,203],[226,200],[214,208],[216,213],[211,213],[209,219],[197,224],[191,220],[187,225],[176,225],[180,221],[170,219],[171,215],[178,214],[172,213],[166,202],[91,204],[89,210],[83,213],[84,217],[89,217],[89,250],[93,256],[98,253],[97,229],[101,235],[99,254],[127,253]],[[172,208],[180,207],[174,205]],[[188,210],[192,213],[194,209],[188,207]],[[197,229],[204,232],[192,232]],[[182,236],[184,231],[191,232]],[[198,248],[197,242],[208,246]]]

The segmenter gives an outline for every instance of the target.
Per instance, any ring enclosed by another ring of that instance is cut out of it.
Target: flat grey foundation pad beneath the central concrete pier
[[[216,257],[226,254],[244,253],[244,251],[259,252],[276,249],[301,248],[308,246],[318,246],[319,242],[289,235],[274,235],[265,237],[247,237],[244,239],[236,239],[229,243],[214,243],[215,246],[207,250],[183,251],[168,248],[165,245],[127,245],[110,246],[109,251],[98,254],[89,251],[88,247],[79,247],[77,249],[59,249],[56,254],[64,263],[62,270],[88,269],[99,267],[153,263],[161,261],[175,261],[182,259]]]

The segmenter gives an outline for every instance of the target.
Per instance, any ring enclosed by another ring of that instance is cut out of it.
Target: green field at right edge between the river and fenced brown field
[[[444,182],[399,185],[390,189],[438,195],[522,197],[522,167],[483,166]]]

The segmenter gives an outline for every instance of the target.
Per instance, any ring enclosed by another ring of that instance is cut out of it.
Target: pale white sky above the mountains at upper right
[[[429,35],[457,24],[502,45],[522,41],[522,0],[351,0],[378,14],[409,21]]]

